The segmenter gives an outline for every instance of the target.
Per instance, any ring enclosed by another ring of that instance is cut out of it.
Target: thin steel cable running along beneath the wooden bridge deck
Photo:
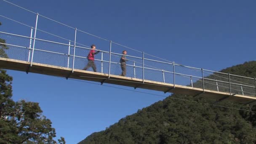
[[[53,77],[57,77],[57,76],[53,76]],[[65,79],[64,77],[58,77],[58,78]],[[76,80],[76,79],[72,79],[72,78],[69,78],[69,80],[74,80],[74,81],[83,82],[83,83],[90,83],[90,84],[94,84],[94,85],[101,85],[101,84],[98,84],[98,83],[87,82],[87,81],[84,81],[84,80]],[[228,109],[242,110],[242,111],[247,111],[247,112],[256,112],[256,111],[251,111],[251,110],[246,110],[246,109],[238,109],[238,108],[234,108],[234,107],[226,107],[226,106],[221,106],[221,105],[216,105],[216,104],[209,104],[209,103],[204,103],[204,102],[200,102],[200,101],[192,101],[192,100],[188,100],[188,99],[174,98],[172,96],[163,96],[163,95],[158,95],[158,94],[154,94],[154,93],[146,93],[146,92],[142,92],[142,91],[130,90],[130,89],[126,89],[126,88],[118,88],[118,87],[111,86],[111,85],[101,85],[101,86],[106,86],[106,87],[110,87],[110,88],[117,88],[117,89],[121,89],[121,90],[125,90],[125,91],[133,91],[133,92],[137,92],[137,93],[144,93],[144,94],[149,94],[149,95],[153,95],[153,96],[160,96],[160,97],[165,97],[165,98],[169,97],[171,99],[176,99],[176,100],[181,100],[181,101],[189,101],[189,102],[194,102],[194,103],[198,103],[198,104],[211,105],[211,106],[215,106],[215,107],[224,107],[224,108],[228,108]]]

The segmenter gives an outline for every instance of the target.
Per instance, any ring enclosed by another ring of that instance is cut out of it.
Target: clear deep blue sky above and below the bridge
[[[179,64],[218,71],[256,60],[255,0],[10,1],[72,27]],[[0,5],[1,15],[35,25],[34,14],[3,0]],[[23,29],[2,17],[0,21],[3,23],[0,31],[29,36],[29,28]],[[44,19],[39,19],[38,27],[74,39],[72,30],[60,30],[67,28]],[[43,34],[39,32],[40,36]],[[87,37],[77,39],[87,45],[98,44]],[[98,45],[108,50],[108,43]],[[53,122],[57,137],[63,136],[68,144],[77,143],[163,99],[46,75],[11,70],[8,74],[13,76],[13,99],[39,102],[43,114]]]

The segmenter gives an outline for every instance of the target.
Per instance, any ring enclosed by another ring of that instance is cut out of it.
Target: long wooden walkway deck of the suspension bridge
[[[74,69],[72,72],[72,68],[67,67],[58,67],[48,64],[39,64],[34,63],[32,67],[30,67],[30,62],[27,61],[20,61],[15,59],[5,59],[0,58],[0,68],[3,69],[12,69],[24,72],[33,72],[43,75],[53,75],[59,77],[69,77],[74,79],[80,80],[89,80],[95,82],[104,82],[110,83],[115,85],[124,85],[133,88],[143,88],[155,91],[163,91],[169,93],[176,93],[176,94],[185,94],[191,96],[200,96],[209,99],[223,99],[228,101],[233,101],[237,103],[247,104],[250,102],[256,101],[256,97],[253,96],[243,96],[239,94],[234,94],[230,96],[230,93],[219,92],[219,91],[211,91],[205,90],[203,93],[202,88],[192,88],[189,86],[183,85],[174,85],[170,83],[161,83],[156,81],[150,80],[143,80],[131,77],[122,77],[117,75],[110,75],[108,78],[108,74],[103,74],[99,72],[91,72],[91,71],[84,71],[80,69]]]

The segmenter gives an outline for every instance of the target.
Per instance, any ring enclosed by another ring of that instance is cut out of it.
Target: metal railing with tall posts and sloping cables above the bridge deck
[[[10,4],[18,6],[13,3]],[[26,8],[18,7],[22,10],[29,11]],[[120,58],[123,54],[117,53],[113,50],[113,48],[121,47],[122,49],[128,48],[131,51],[136,52],[131,55],[126,55],[128,59],[126,64],[126,77],[141,79],[141,83],[144,83],[144,80],[152,80],[173,84],[174,88],[175,85],[184,85],[193,88],[202,88],[203,91],[212,90],[226,92],[230,95],[241,94],[246,96],[256,96],[255,78],[176,64],[174,61],[158,58],[157,56],[152,56],[134,48],[129,48],[111,40],[70,27],[67,24],[42,16],[39,13],[32,11],[29,11],[29,13],[36,15],[35,27],[31,27],[28,24],[23,24],[19,21],[0,15],[1,17],[18,23],[21,26],[29,27],[29,30],[27,30],[29,32],[27,33],[30,34],[29,36],[24,36],[24,33],[22,33],[22,35],[16,35],[11,32],[0,32],[0,38],[6,40],[5,45],[8,46],[8,49],[5,49],[4,52],[8,55],[8,58],[29,61],[31,62],[31,67],[33,67],[34,62],[37,62],[41,64],[71,68],[72,72],[74,72],[74,69],[83,69],[87,64],[86,56],[91,48],[77,42],[77,38],[80,38],[78,33],[81,32],[89,35],[90,37],[96,37],[99,40],[107,42],[104,43],[104,46],[108,47],[109,50],[99,50],[100,54],[96,55],[95,63],[97,71],[107,74],[109,78],[111,75],[120,75],[122,73]],[[38,19],[41,18],[72,29],[72,32],[75,32],[75,35],[71,36],[74,38],[74,41],[52,34],[45,30],[38,29]],[[39,38],[37,36],[37,32],[43,32],[45,35],[59,38],[62,41],[60,42],[55,39],[47,39],[46,37]],[[0,44],[3,45],[4,43]],[[137,55],[135,56],[135,54]],[[149,59],[148,57],[153,57],[153,59]]]

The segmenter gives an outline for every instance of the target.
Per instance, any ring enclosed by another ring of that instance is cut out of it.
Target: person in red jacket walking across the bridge
[[[94,55],[98,54],[99,51],[95,52],[96,49],[96,45],[91,45],[91,51],[89,52],[87,59],[88,59],[88,63],[87,66],[85,68],[83,68],[83,70],[87,70],[88,68],[92,67],[94,72],[97,72],[96,69],[96,65],[94,63]]]

